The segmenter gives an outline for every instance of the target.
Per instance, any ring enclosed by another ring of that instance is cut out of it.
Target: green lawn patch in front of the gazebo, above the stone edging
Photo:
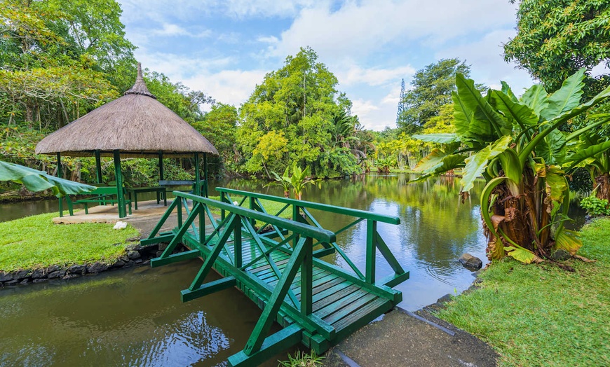
[[[132,226],[113,230],[114,225],[107,223],[53,224],[57,215],[0,223],[0,270],[112,263],[125,253],[126,240],[139,235]]]

